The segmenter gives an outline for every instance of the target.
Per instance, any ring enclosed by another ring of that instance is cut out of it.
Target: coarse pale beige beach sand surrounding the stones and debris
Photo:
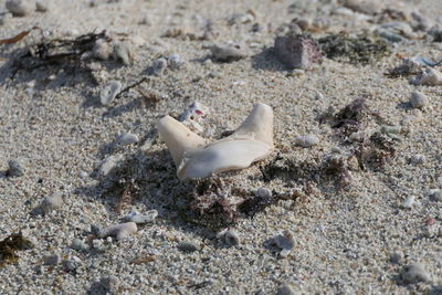
[[[4,2],[0,1],[0,10]],[[324,59],[313,70],[292,74],[270,49],[277,28],[295,15],[288,9],[293,1],[90,2],[54,1],[48,12],[0,25],[0,39],[32,27],[54,38],[106,30],[134,49],[130,65],[115,60],[88,62],[92,75],[41,67],[12,77],[12,60],[38,42],[40,32],[0,45],[0,240],[22,230],[35,243],[17,252],[17,263],[0,267],[1,294],[276,294],[284,283],[296,294],[441,294],[441,202],[429,191],[442,189],[442,88],[411,85],[412,76],[385,75],[400,64],[398,54],[440,60],[441,43],[406,40],[394,44],[387,57],[367,65]],[[326,15],[333,24],[328,32],[357,33],[378,25],[329,14],[332,8],[324,2],[328,1],[301,1],[296,12]],[[420,11],[431,22],[442,11],[439,0],[387,2],[382,7]],[[251,22],[229,24],[233,14],[250,9]],[[260,24],[257,32],[252,30],[254,23]],[[197,38],[209,32],[211,40],[164,38],[172,28]],[[208,45],[228,42],[240,44],[248,57],[212,61]],[[148,76],[157,57],[173,53],[186,62],[182,69]],[[108,81],[126,87],[144,76],[148,81],[139,88],[159,97],[155,106],[139,103],[135,89],[108,106],[99,104],[99,92]],[[423,109],[407,106],[417,89],[429,99]],[[296,173],[264,180],[260,166],[271,165],[278,154],[295,162],[320,165],[338,147],[341,157],[349,158],[357,144],[346,141],[317,117],[329,106],[338,110],[360,97],[368,109],[361,123],[364,135],[379,131],[381,125],[403,129],[401,140],[393,141],[394,156],[385,166],[354,167],[345,187],[339,179],[313,178],[311,193],[305,193],[308,181],[298,180]],[[241,240],[238,246],[227,246],[214,231],[182,218],[188,210],[185,194],[192,185],[176,177],[167,147],[156,134],[159,118],[180,114],[194,101],[210,110],[202,125],[211,138],[238,127],[255,103],[274,109],[274,152],[248,169],[220,175],[225,191],[239,187],[253,193],[267,188],[305,194],[278,201],[253,218],[241,215],[232,225]],[[139,143],[115,147],[118,134],[127,131],[136,134]],[[296,136],[306,134],[314,134],[319,143],[296,146]],[[119,165],[128,172],[97,176],[113,155],[126,159]],[[423,164],[410,164],[414,155],[423,155]],[[10,159],[22,164],[24,176],[7,177]],[[114,185],[130,179],[139,188],[118,212],[120,191]],[[62,207],[32,214],[53,193],[62,193]],[[403,208],[409,196],[415,202]],[[129,211],[148,210],[158,211],[155,222],[123,241],[96,239],[91,229],[120,223]],[[293,232],[295,245],[281,257],[271,239],[284,230]],[[74,239],[84,240],[90,249],[73,250]],[[201,249],[183,252],[177,247],[180,241]],[[49,254],[59,254],[61,263],[43,265]],[[77,261],[75,270],[66,267],[70,260]],[[411,263],[422,264],[430,280],[417,284],[401,280],[401,270]]]

